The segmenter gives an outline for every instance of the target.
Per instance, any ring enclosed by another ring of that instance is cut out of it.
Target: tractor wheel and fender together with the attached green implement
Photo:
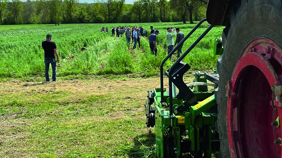
[[[158,158],[211,158],[213,151],[220,158],[282,157],[281,6],[276,0],[209,0],[207,18],[162,61],[160,88],[148,91],[146,124],[155,127]],[[165,89],[164,63],[205,21],[210,26],[165,71]],[[214,41],[217,68],[184,83],[190,66],[182,59],[214,26],[226,26]]]

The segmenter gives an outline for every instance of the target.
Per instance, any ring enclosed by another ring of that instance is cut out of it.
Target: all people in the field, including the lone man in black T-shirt
[[[151,50],[151,54],[157,56],[158,50],[157,50],[157,45],[156,45],[156,39],[157,39],[157,35],[160,34],[159,30],[154,30],[153,26],[150,26],[151,28],[151,32],[150,32],[150,36],[149,36],[149,46],[150,46],[150,50]],[[114,28],[112,27],[112,35],[115,35],[116,33],[116,37],[122,37],[122,35],[125,33],[125,37],[126,37],[126,42],[129,46],[130,44],[130,40],[131,38],[132,43],[134,42],[133,45],[133,49],[136,48],[136,44],[138,42],[138,45],[140,47],[140,37],[147,37],[147,30],[143,29],[142,26],[137,27],[137,26],[133,26],[132,28],[129,27],[117,27]],[[173,30],[173,33],[171,33]],[[167,33],[166,33],[166,43],[167,43],[167,47],[168,47],[168,54],[173,50],[173,48],[177,45],[180,44],[180,41],[182,39],[184,39],[184,34],[179,30],[179,28],[174,28],[172,29],[172,27],[167,28]],[[109,32],[108,27],[104,28],[102,27],[101,32]],[[176,40],[175,43],[173,42],[173,37],[176,36]],[[177,49],[177,57],[179,58],[180,53],[183,53],[182,51],[182,46],[183,44],[181,44],[181,46],[178,47]],[[46,40],[42,42],[42,49],[44,49],[44,63],[45,63],[45,78],[46,78],[46,82],[49,83],[50,82],[50,78],[49,78],[49,66],[51,64],[52,66],[52,81],[53,83],[56,82],[56,62],[60,62],[59,56],[58,56],[58,52],[57,52],[57,47],[55,42],[52,42],[52,35],[51,34],[47,34],[46,36]],[[56,60],[56,57],[57,60]],[[169,60],[171,60],[171,56],[169,58]]]

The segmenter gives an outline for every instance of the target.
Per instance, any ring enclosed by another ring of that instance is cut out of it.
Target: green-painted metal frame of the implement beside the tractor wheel
[[[205,75],[206,73],[195,73],[195,82],[207,82]],[[212,129],[215,128],[217,113],[206,111],[217,105],[214,92],[208,92],[207,86],[195,86],[193,93],[197,101],[188,107],[184,107],[183,100],[173,97],[173,111],[180,106],[185,109],[182,112],[174,111],[173,118],[169,117],[169,97],[166,89],[165,103],[160,102],[160,88],[154,88],[153,92],[157,157],[179,158],[181,152],[190,152],[194,157],[211,158],[212,148],[215,146],[215,143],[211,144],[215,142],[212,140]]]

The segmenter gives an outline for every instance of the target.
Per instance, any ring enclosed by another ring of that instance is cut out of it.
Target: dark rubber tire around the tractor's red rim
[[[227,135],[226,85],[244,47],[257,37],[266,37],[282,47],[282,4],[277,0],[239,0],[230,12],[230,25],[222,32],[224,53],[217,61],[219,89],[217,132],[220,138],[220,158],[230,158]],[[254,76],[255,77],[255,76]],[[259,86],[259,85],[258,85]],[[246,120],[247,121],[247,120]]]

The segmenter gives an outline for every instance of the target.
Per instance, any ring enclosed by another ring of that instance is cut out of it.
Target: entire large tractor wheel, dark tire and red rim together
[[[220,158],[281,157],[282,127],[271,125],[282,118],[281,2],[239,0],[231,7],[217,61]]]

